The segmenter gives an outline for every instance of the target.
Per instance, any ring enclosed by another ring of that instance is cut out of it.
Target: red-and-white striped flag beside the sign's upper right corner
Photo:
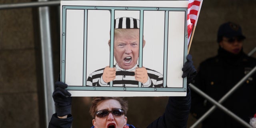
[[[202,1],[203,0],[188,0],[188,45],[190,43],[193,27],[196,26]]]

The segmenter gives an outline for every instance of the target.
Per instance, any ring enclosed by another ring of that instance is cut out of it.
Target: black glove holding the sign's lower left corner
[[[55,83],[55,90],[52,93],[52,98],[55,102],[57,116],[65,116],[71,113],[72,98],[68,97],[71,94],[66,90],[68,85],[63,82]]]

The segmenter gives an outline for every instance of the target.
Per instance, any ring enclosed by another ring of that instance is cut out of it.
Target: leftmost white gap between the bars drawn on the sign
[[[83,86],[84,9],[66,10],[65,59],[65,83],[69,86]]]

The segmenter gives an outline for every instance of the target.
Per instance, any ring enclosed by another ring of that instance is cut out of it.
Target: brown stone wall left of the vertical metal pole
[[[29,0],[0,0],[0,4]],[[0,10],[0,128],[39,128],[32,8]]]

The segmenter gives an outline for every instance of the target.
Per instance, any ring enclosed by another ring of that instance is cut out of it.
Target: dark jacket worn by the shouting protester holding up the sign
[[[152,122],[147,128],[186,128],[191,104],[190,88],[187,96],[172,96],[168,100],[166,110],[162,116]],[[70,128],[73,117],[60,119],[52,115],[49,128]]]

